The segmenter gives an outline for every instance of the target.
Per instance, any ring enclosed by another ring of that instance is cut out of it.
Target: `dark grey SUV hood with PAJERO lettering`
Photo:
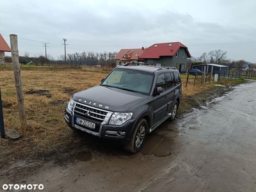
[[[77,92],[73,96],[76,102],[116,112],[126,112],[129,108],[147,98],[147,95],[106,86],[93,86],[88,90]]]

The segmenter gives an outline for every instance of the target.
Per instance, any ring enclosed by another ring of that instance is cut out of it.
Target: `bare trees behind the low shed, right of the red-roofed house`
[[[228,70],[236,68],[241,70],[244,66],[248,66],[250,62],[244,60],[230,60],[227,59],[227,51],[222,51],[221,49],[204,52],[200,57],[188,58],[188,65],[191,67],[193,65],[202,65],[205,63],[214,63],[218,65],[228,66]]]

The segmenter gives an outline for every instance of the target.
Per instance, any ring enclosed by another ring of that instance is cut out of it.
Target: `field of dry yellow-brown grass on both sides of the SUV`
[[[27,116],[28,131],[19,140],[3,140],[1,145],[5,156],[0,163],[12,156],[36,156],[74,143],[76,135],[67,127],[63,112],[67,101],[75,92],[100,84],[110,70],[95,68],[21,68],[22,90]],[[228,88],[212,84],[202,85],[201,79],[182,75],[183,95],[178,117],[191,108],[200,108],[203,102],[227,92]],[[218,84],[239,84],[243,80],[220,81]],[[21,133],[13,68],[0,67],[0,88],[3,104],[4,127]],[[6,148],[7,147],[7,148]],[[0,148],[1,149],[1,148]]]

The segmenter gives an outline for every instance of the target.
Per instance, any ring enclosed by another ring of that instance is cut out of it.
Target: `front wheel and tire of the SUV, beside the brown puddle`
[[[125,150],[137,153],[141,150],[143,143],[147,136],[147,121],[143,118],[136,124],[134,131],[132,132],[132,138],[129,144],[125,145]]]

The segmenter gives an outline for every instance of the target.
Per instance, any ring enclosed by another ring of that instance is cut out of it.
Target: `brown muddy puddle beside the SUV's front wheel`
[[[148,134],[146,141],[141,148],[141,154],[165,157],[170,156],[173,152],[173,148],[173,141],[169,138],[158,134]]]

